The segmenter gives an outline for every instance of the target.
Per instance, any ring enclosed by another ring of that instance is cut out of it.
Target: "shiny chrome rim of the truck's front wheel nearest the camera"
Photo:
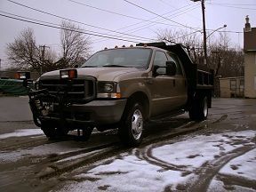
[[[139,140],[143,129],[143,116],[139,109],[136,109],[132,115],[132,136]]]

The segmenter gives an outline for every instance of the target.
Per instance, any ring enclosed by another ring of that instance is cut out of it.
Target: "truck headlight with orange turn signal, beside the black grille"
[[[98,98],[121,98],[119,87],[116,82],[98,82]]]

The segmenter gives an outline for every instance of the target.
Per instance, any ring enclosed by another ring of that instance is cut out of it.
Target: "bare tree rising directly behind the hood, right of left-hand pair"
[[[81,58],[88,58],[91,51],[90,36],[69,21],[62,21],[60,31],[60,63],[63,67],[73,67]]]

